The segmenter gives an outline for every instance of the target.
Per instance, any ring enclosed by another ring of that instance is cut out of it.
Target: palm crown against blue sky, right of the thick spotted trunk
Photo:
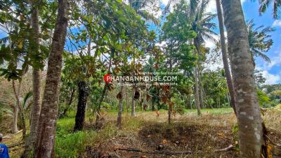
[[[254,56],[259,56],[263,58],[263,60],[270,62],[270,58],[264,53],[269,51],[269,49],[273,45],[273,39],[268,38],[271,37],[269,33],[273,32],[275,29],[273,29],[272,27],[264,27],[263,25],[254,28],[255,24],[253,20],[247,22],[246,25],[249,34],[248,38],[251,56],[253,58]]]

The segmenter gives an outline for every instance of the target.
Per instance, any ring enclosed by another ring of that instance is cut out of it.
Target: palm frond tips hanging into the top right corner
[[[270,4],[273,4],[273,18],[279,18],[279,8],[281,6],[281,0],[259,0],[259,13],[266,12]]]

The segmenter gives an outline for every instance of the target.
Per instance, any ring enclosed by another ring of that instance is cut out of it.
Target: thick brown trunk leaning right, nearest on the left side
[[[55,127],[58,114],[58,91],[63,61],[63,48],[67,32],[69,4],[67,0],[58,1],[58,15],[55,32],[48,57],[46,84],[39,118],[37,143],[34,150],[36,158],[54,157]]]

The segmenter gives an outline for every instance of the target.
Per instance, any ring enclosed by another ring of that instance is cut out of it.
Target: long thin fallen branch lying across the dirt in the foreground
[[[226,148],[223,148],[221,150],[214,150],[214,151],[198,151],[198,152],[192,152],[192,151],[183,151],[183,152],[169,152],[169,151],[143,151],[139,150],[137,148],[118,148],[118,150],[124,150],[129,152],[142,152],[146,154],[192,154],[192,153],[204,153],[204,152],[225,152],[228,150],[232,150],[234,148],[233,145],[229,145]]]

